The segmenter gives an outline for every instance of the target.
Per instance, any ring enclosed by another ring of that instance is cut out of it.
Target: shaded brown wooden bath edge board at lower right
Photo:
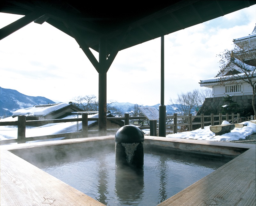
[[[255,175],[255,149],[250,149],[158,206],[253,206]]]

